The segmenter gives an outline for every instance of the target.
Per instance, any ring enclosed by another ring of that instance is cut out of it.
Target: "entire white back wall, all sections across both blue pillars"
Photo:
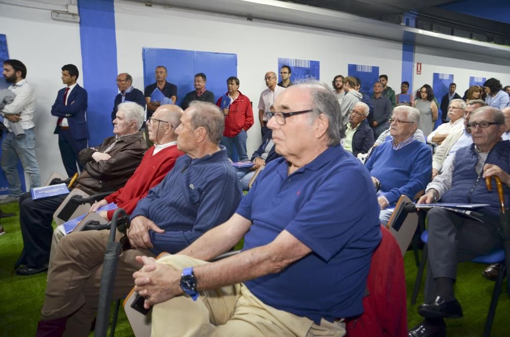
[[[236,53],[241,91],[255,105],[265,89],[264,73],[278,71],[278,58],[320,61],[320,77],[328,85],[335,75],[347,74],[349,63],[379,66],[389,75],[389,85],[396,91],[400,87],[401,43],[122,0],[115,1],[115,11],[118,69],[131,73],[139,89],[143,89],[142,47]],[[54,21],[48,10],[0,4],[0,34],[7,35],[10,57],[27,65],[27,79],[37,92],[36,151],[42,180],[52,172],[64,174],[58,137],[53,134],[56,118],[49,111],[63,87],[62,65],[73,63],[82,69],[79,25]],[[510,67],[499,66],[501,60],[417,47],[415,62],[423,66],[422,75],[414,75],[414,88],[431,83],[433,72],[454,74],[460,92],[467,88],[469,76],[494,76],[503,85],[510,83]],[[248,132],[248,153],[259,145],[259,127],[256,118]]]

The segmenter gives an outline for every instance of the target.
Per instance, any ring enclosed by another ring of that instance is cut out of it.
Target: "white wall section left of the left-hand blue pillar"
[[[9,57],[27,66],[27,80],[37,94],[36,154],[44,183],[53,172],[65,175],[58,135],[53,134],[57,118],[50,111],[57,91],[64,87],[62,66],[72,63],[82,72],[80,27],[52,20],[47,10],[0,4],[0,34],[7,37]],[[83,84],[81,77],[78,82]]]

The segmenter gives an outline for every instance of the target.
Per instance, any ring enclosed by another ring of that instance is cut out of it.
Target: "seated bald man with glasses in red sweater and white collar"
[[[174,132],[181,124],[182,113],[183,109],[177,105],[161,105],[156,109],[152,117],[147,120],[149,139],[154,143],[154,146],[145,152],[140,165],[126,184],[105,199],[94,203],[90,208],[91,211],[95,212],[100,207],[115,203],[127,214],[131,214],[138,201],[145,198],[149,189],[158,185],[165,178],[173,168],[175,160],[184,154],[177,150],[177,135]],[[100,211],[99,215],[106,220],[111,220],[114,211],[115,209]],[[50,263],[58,242],[63,236],[58,228],[53,233]]]

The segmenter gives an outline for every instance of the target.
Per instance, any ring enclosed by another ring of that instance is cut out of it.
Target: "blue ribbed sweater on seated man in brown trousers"
[[[163,181],[138,202],[131,217],[143,215],[166,231],[149,231],[154,254],[181,251],[236,211],[241,183],[221,148],[202,158],[179,157]]]

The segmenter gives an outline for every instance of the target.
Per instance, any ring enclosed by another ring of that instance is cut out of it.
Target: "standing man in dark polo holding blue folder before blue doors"
[[[156,83],[145,87],[144,96],[147,103],[147,120],[154,114],[158,106],[165,104],[162,100],[166,97],[175,104],[177,100],[177,86],[166,81],[167,70],[165,66],[156,67]],[[168,104],[168,103],[167,103]]]

